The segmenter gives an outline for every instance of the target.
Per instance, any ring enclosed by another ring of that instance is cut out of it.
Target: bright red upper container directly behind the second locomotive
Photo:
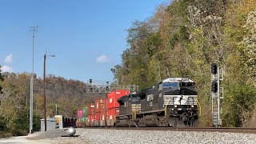
[[[129,94],[129,90],[114,90],[107,94],[107,109],[119,107],[118,98]]]

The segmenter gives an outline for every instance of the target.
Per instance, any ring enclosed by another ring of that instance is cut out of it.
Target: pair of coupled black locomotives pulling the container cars
[[[189,78],[166,78],[118,98],[116,126],[197,126],[198,92]]]

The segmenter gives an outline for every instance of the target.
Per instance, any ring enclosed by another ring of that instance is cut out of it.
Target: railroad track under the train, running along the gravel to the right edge
[[[228,133],[249,133],[256,134],[256,128],[246,127],[85,127],[85,129],[105,130],[175,130],[175,131],[209,131]]]

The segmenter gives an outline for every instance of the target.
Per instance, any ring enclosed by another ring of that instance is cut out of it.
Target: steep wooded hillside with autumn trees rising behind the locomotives
[[[118,83],[141,88],[168,77],[189,77],[202,106],[201,126],[212,126],[210,66],[224,70],[222,126],[255,126],[256,1],[174,0],[127,30]]]

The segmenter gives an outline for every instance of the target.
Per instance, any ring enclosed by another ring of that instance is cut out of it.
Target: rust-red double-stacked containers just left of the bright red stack
[[[106,98],[97,98],[95,101],[94,126],[106,126]]]

